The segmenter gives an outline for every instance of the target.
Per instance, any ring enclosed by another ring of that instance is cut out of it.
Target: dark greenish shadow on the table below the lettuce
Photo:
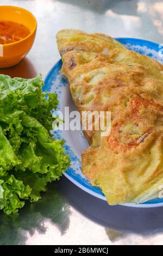
[[[36,203],[26,203],[19,215],[0,214],[0,245],[24,245],[27,235],[35,231],[46,233],[45,221],[51,221],[64,235],[70,224],[70,208],[58,190],[58,183],[49,184],[42,199]]]

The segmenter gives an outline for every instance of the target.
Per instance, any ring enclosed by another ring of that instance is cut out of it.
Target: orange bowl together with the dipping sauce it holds
[[[30,11],[0,5],[0,68],[21,62],[33,45],[37,21]]]

